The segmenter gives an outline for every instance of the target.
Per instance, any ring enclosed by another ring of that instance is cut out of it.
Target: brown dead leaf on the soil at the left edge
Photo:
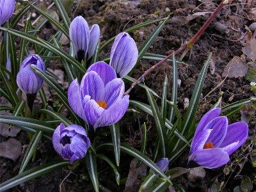
[[[0,156],[16,161],[21,153],[21,143],[15,138],[0,143]]]

